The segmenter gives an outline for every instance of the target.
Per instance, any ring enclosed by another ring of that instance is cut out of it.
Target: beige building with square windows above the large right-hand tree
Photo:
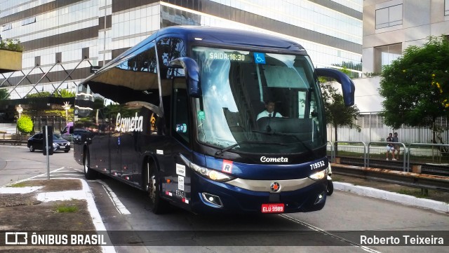
[[[449,0],[365,0],[363,73],[380,73],[408,46],[443,34],[449,34]]]

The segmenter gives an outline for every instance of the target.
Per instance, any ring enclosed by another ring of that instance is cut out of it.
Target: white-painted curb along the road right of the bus
[[[354,184],[333,182],[334,189],[340,191],[349,191],[361,196],[368,196],[373,198],[381,198],[384,200],[390,200],[398,202],[404,205],[413,205],[416,207],[422,207],[426,209],[435,210],[438,212],[449,213],[449,204],[436,200],[429,200],[426,198],[416,198],[415,196],[409,196],[400,193],[393,193],[390,191],[379,190],[366,186],[355,186]]]

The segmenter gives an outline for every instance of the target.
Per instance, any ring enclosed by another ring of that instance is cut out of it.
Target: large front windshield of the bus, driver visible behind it
[[[321,92],[307,55],[194,47],[199,142],[235,153],[303,153],[326,144]]]

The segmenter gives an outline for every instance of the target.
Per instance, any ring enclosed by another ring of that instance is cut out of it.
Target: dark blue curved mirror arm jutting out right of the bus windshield
[[[342,71],[339,71],[337,69],[323,68],[315,69],[315,72],[316,76],[325,76],[337,80],[337,82],[342,85],[344,105],[346,105],[347,107],[351,107],[352,105],[354,105],[354,93],[356,87],[354,86],[354,82],[351,80],[351,78],[349,78],[349,76],[347,76],[347,74],[344,74]]]

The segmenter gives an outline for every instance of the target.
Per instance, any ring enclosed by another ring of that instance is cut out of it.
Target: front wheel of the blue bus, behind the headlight
[[[154,164],[147,161],[146,163],[146,175],[149,175],[146,179],[146,190],[149,197],[149,210],[154,214],[163,214],[167,212],[168,203],[161,198],[161,187],[159,172]]]

